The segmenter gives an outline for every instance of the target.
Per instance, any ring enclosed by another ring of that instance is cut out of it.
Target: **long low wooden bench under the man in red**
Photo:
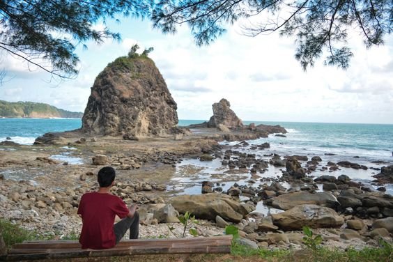
[[[8,249],[0,261],[37,259],[70,259],[100,256],[131,256],[146,254],[231,253],[232,236],[208,238],[136,239],[118,242],[111,249],[81,249],[75,240],[24,241]]]

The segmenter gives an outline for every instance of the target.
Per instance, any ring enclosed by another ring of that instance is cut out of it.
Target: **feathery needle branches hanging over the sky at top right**
[[[228,24],[238,20],[248,36],[279,31],[295,36],[295,58],[303,69],[326,52],[325,64],[348,68],[353,53],[348,31],[360,31],[367,47],[383,44],[392,32],[392,0],[185,0],[159,1],[152,13],[154,26],[175,33],[188,24],[197,45],[211,43]],[[257,21],[257,22],[255,22]]]

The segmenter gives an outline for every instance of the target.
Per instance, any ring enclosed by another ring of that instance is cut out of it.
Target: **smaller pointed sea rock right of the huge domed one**
[[[224,125],[226,128],[241,128],[242,121],[231,109],[231,104],[225,98],[213,104],[213,116],[210,117],[208,128],[218,128]]]

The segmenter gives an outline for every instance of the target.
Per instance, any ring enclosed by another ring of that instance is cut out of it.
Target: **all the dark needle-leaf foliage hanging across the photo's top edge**
[[[147,17],[164,33],[188,24],[197,45],[212,43],[226,26],[241,20],[249,36],[275,31],[294,35],[295,58],[305,69],[323,52],[327,65],[347,68],[353,56],[346,44],[348,31],[360,31],[367,47],[383,44],[383,37],[392,32],[393,1],[0,0],[0,55],[20,57],[52,75],[73,77],[78,72],[77,45],[120,40],[107,27],[94,27],[118,15]],[[2,76],[0,72],[0,80]]]

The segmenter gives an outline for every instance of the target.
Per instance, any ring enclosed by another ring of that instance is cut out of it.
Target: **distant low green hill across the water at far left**
[[[0,117],[9,118],[82,118],[83,113],[71,112],[36,102],[6,102],[0,100]]]

